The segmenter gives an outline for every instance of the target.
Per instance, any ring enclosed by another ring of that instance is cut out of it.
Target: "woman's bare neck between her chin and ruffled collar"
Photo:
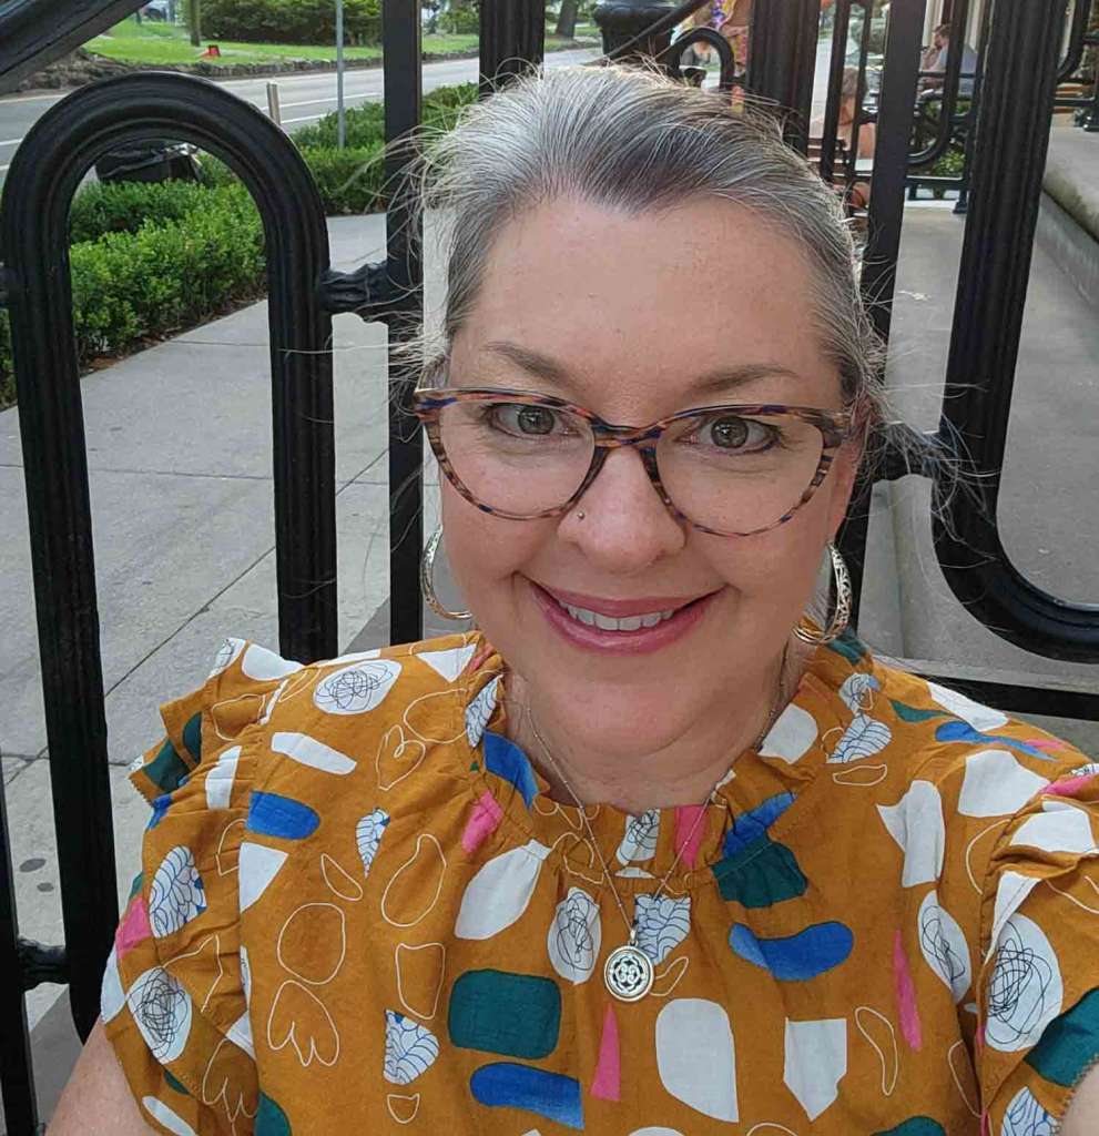
[[[660,749],[594,752],[573,738],[570,722],[540,705],[537,691],[507,676],[507,733],[550,783],[562,804],[610,804],[632,816],[648,809],[706,801],[737,757],[760,741],[797,687],[805,657],[783,652],[762,673],[738,683],[743,698],[728,700]],[[570,792],[571,790],[571,792]]]

